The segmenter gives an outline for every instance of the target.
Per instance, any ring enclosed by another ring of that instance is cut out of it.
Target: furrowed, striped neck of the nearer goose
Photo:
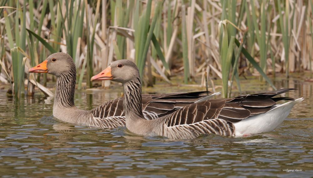
[[[142,114],[142,97],[141,97],[141,81],[138,76],[133,81],[123,83],[124,86],[124,100],[123,107],[125,116],[138,116],[144,118]],[[133,115],[134,114],[134,115]]]

